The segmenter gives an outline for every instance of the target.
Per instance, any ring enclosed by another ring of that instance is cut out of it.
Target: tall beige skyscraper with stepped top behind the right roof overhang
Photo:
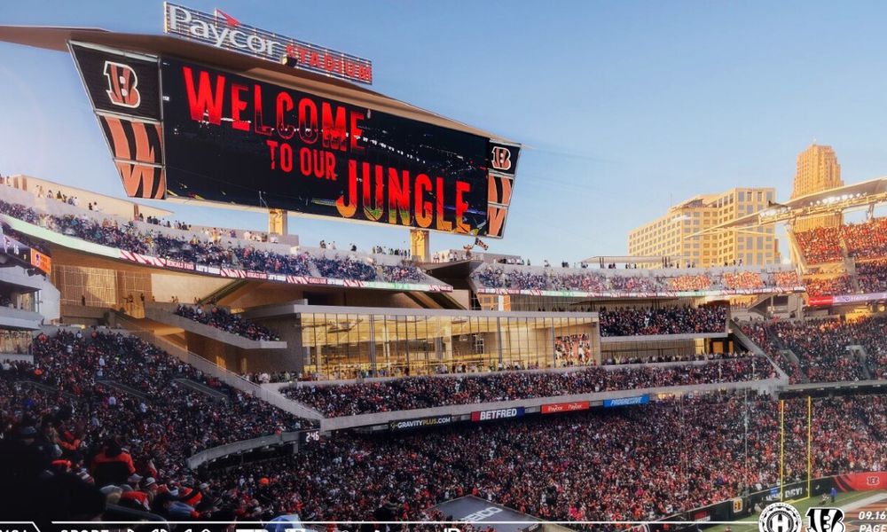
[[[805,151],[797,154],[797,173],[795,185],[791,191],[794,200],[813,192],[826,191],[842,186],[841,165],[837,162],[835,150],[831,146],[820,146],[815,143]],[[844,222],[842,215],[801,218],[795,222],[793,230],[810,231],[817,227],[834,227]]]

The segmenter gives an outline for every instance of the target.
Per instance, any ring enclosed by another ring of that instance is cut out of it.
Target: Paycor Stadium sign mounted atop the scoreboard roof
[[[224,12],[209,14],[166,2],[163,4],[163,22],[163,30],[169,35],[315,74],[349,82],[373,83],[373,63],[369,59],[248,26]]]

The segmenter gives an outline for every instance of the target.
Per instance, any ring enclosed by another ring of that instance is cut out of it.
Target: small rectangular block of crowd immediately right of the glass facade
[[[726,331],[726,306],[600,309],[600,336],[639,336]]]

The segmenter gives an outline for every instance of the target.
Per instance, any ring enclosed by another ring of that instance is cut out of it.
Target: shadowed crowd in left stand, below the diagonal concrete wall
[[[76,517],[107,497],[191,519],[207,494],[185,458],[313,426],[133,337],[40,334],[32,354],[33,364],[6,362],[0,371],[4,481],[21,496],[4,497],[4,516]],[[48,476],[44,468],[71,474]]]

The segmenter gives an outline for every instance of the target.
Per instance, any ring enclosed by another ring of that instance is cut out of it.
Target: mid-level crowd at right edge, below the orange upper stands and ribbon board
[[[791,382],[834,382],[887,378],[887,318],[865,317],[857,321],[840,319],[756,322],[743,330],[773,356]],[[866,350],[863,364],[848,351],[860,345]],[[779,353],[786,349],[797,356],[798,364]]]

